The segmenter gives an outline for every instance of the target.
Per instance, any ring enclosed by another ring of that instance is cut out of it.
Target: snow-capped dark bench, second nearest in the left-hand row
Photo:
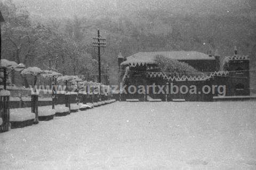
[[[55,109],[52,109],[52,106],[38,107],[38,120],[39,121],[52,120],[54,115],[55,115]]]

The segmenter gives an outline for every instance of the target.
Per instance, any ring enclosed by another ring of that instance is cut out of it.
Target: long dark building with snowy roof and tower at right
[[[186,62],[190,66],[199,71],[204,72],[203,76],[185,76],[175,77],[161,72],[157,69],[155,57],[157,55],[165,56],[169,59]],[[122,83],[124,85],[166,85],[173,83],[177,86],[182,85],[196,85],[202,88],[204,85],[212,86],[225,86],[225,96],[249,96],[250,95],[250,61],[248,56],[237,55],[237,51],[233,56],[227,56],[226,70],[219,71],[217,64],[219,63],[220,56],[209,56],[199,52],[141,52],[127,58],[118,56],[119,70],[123,72]],[[162,101],[171,101],[173,99],[185,99],[187,101],[212,101],[218,93],[209,94],[127,94],[123,95],[124,99],[139,99],[146,101],[147,97],[153,99],[161,99]]]

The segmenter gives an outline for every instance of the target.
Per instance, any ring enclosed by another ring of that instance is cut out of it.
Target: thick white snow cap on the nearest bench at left
[[[10,122],[23,122],[31,119],[35,119],[35,114],[31,112],[31,108],[10,109]]]

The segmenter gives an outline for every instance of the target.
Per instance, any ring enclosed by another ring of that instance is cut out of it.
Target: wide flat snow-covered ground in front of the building
[[[256,169],[256,102],[116,102],[0,134],[0,169]]]

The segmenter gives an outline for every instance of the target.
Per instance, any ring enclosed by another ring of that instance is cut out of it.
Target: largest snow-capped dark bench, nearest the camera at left
[[[11,128],[19,128],[34,124],[35,114],[31,108],[10,109]]]

